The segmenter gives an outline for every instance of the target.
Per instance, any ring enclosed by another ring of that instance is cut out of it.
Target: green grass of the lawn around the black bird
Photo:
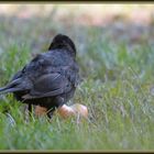
[[[48,19],[0,16],[0,85],[32,54],[44,52],[55,34],[65,33],[77,46],[82,76],[73,101],[88,107],[89,120],[77,123],[54,117],[48,123],[33,117],[26,123],[23,105],[12,95],[1,96],[0,150],[154,150],[152,32],[130,44],[129,33],[125,40],[121,35],[114,40],[111,29]]]

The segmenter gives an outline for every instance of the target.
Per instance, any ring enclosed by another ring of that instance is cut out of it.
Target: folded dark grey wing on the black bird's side
[[[72,89],[69,80],[59,73],[46,74],[34,81],[30,92],[23,99],[53,97],[68,92]]]

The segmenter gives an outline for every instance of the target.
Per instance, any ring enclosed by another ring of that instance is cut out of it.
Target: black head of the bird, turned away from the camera
[[[51,43],[48,51],[57,48],[67,50],[70,53],[70,55],[76,56],[76,46],[74,42],[66,35],[57,34],[53,38],[53,42]]]

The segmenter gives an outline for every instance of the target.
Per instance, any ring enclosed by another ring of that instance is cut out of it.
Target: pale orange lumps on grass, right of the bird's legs
[[[82,118],[88,118],[88,109],[86,106],[75,103],[70,107],[63,105],[61,108],[57,109],[57,112],[63,118],[69,118],[74,116],[79,116]]]

